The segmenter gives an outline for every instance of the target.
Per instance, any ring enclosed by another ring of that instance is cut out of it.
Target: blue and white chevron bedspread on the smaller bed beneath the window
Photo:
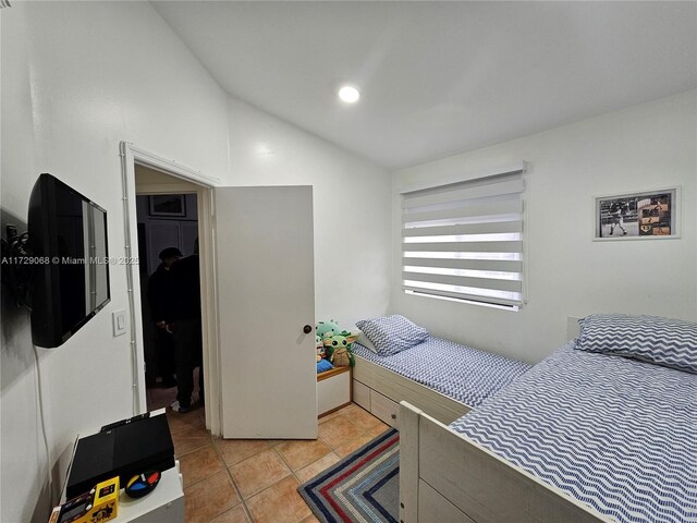
[[[432,336],[391,356],[379,356],[359,343],[354,343],[353,349],[355,354],[365,360],[468,406],[481,404],[530,368],[527,363]]]

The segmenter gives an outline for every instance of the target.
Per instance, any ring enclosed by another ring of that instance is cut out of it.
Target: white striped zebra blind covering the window
[[[523,303],[524,169],[403,192],[402,281],[414,294]]]

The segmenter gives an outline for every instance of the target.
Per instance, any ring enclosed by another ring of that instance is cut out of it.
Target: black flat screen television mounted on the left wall
[[[107,211],[51,174],[29,198],[32,341],[63,344],[109,303]]]

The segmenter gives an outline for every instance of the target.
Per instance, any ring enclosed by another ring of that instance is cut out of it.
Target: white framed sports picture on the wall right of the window
[[[594,240],[678,238],[680,187],[596,198]]]

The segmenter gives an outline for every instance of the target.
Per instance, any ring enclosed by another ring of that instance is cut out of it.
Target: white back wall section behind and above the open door
[[[236,99],[230,101],[230,125],[231,184],[314,186],[317,319],[334,319],[350,330],[358,319],[384,314],[391,273],[388,173]]]

